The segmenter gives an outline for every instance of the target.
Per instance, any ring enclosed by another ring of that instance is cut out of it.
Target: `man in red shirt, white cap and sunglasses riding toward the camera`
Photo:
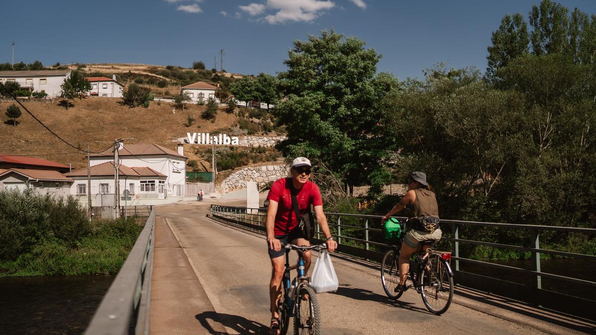
[[[311,177],[311,161],[305,157],[298,157],[292,162],[290,178],[281,178],[271,185],[267,200],[267,244],[269,258],[271,258],[271,282],[269,283],[269,296],[271,298],[271,327],[270,334],[280,333],[280,315],[278,315],[278,301],[281,297],[281,278],[284,275],[285,249],[281,244],[291,243],[297,246],[310,246],[302,229],[298,225],[296,213],[292,207],[292,196],[296,196],[300,216],[315,208],[316,222],[319,223],[322,233],[327,239],[327,247],[333,252],[337,243],[331,237],[327,217],[323,212],[321,191],[315,183],[309,181]],[[305,272],[311,265],[311,252],[304,253]]]

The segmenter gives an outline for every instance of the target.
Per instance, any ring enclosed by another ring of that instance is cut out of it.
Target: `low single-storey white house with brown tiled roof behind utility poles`
[[[97,194],[114,194],[114,162],[105,162],[91,166],[91,198],[95,200]],[[129,168],[118,166],[119,187],[121,201],[124,201],[124,191],[128,190],[129,205],[139,202],[136,199],[166,198],[167,176],[154,169],[141,167]],[[79,198],[87,197],[87,168],[65,173],[74,182],[70,187],[70,194]],[[124,202],[122,202],[124,205]]]

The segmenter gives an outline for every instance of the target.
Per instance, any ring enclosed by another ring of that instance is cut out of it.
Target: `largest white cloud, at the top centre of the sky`
[[[363,0],[352,0],[362,2]],[[358,4],[356,4],[358,5]],[[287,21],[309,22],[321,16],[325,11],[335,7],[333,1],[326,0],[267,0],[265,4],[257,4],[255,2],[247,6],[239,6],[240,9],[252,16],[265,13],[266,10],[274,11],[275,13],[265,15],[259,18],[265,22],[276,24],[285,23]],[[240,17],[240,15],[236,15]]]

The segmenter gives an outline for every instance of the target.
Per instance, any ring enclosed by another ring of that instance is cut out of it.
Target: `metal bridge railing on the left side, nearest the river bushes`
[[[154,236],[155,209],[152,208],[145,228],[136,239],[85,334],[149,333]]]

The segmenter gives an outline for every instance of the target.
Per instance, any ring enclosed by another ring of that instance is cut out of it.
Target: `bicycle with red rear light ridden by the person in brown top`
[[[400,222],[400,225],[403,231],[405,223]],[[402,290],[397,289],[400,282],[399,250],[403,235],[398,244],[389,244],[390,250],[385,253],[381,263],[381,281],[390,299],[399,299],[403,294]],[[433,250],[434,240],[422,241],[420,246],[429,246],[429,249],[412,255],[409,262],[412,284],[407,289],[413,287],[422,296],[424,306],[430,312],[440,315],[447,311],[453,297],[453,271],[449,265],[451,252]]]

